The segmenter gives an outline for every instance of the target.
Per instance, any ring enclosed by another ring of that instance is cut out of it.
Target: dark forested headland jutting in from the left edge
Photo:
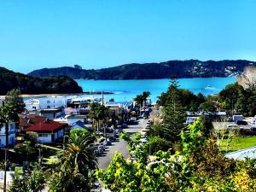
[[[37,78],[0,67],[0,96],[19,89],[22,94],[81,93],[76,81],[67,77]]]

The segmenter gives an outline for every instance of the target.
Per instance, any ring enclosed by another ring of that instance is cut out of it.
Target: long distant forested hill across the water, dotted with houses
[[[256,66],[254,61],[166,61],[160,63],[126,64],[118,67],[85,70],[81,67],[43,68],[29,75],[49,77],[67,75],[72,79],[167,79],[230,77],[240,74],[244,67]]]

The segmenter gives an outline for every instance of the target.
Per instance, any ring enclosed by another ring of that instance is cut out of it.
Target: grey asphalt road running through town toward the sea
[[[140,131],[142,128],[146,127],[147,121],[148,119],[139,119],[137,125],[129,125],[127,129],[124,129],[124,131],[132,135],[137,131]],[[121,152],[124,155],[124,157],[127,158],[128,151],[126,146],[127,146],[127,143],[122,139],[119,139],[117,142],[113,142],[112,146],[108,146],[108,148],[106,148],[105,153],[102,154],[98,159],[99,168],[102,168],[102,169],[107,168],[107,166],[110,164],[110,161],[113,158],[113,154],[115,151]]]

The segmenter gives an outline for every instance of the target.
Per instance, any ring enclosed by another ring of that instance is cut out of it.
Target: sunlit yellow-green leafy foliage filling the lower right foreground
[[[160,143],[160,138],[148,137],[148,143],[140,143],[142,136],[137,134],[129,143],[132,159],[115,154],[107,170],[96,172],[96,176],[111,191],[253,192],[256,160],[225,158],[216,141],[207,139],[203,131],[203,123],[195,121],[189,131],[182,131],[182,153],[159,150],[154,156],[145,152],[148,143]]]

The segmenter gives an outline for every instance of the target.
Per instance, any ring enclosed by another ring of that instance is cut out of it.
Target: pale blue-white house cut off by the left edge
[[[9,123],[9,145],[15,145],[15,133],[16,127],[14,122]],[[5,124],[0,125],[0,148],[4,148],[6,146],[6,132],[5,132]]]

